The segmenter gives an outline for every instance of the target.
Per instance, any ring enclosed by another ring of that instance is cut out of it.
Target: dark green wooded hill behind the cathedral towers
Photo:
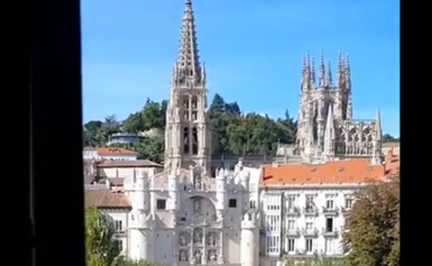
[[[168,101],[153,102],[147,99],[141,111],[132,113],[123,122],[115,115],[105,121],[84,124],[84,146],[105,146],[109,135],[117,132],[138,133],[150,129],[165,129],[165,111]],[[273,120],[268,115],[243,114],[237,102],[227,103],[216,94],[209,106],[212,129],[213,155],[274,155],[278,143],[294,143],[297,122],[288,111],[285,117]],[[395,140],[386,134],[385,140]],[[145,138],[138,144],[119,144],[138,152],[138,158],[161,162],[163,160],[163,136]]]

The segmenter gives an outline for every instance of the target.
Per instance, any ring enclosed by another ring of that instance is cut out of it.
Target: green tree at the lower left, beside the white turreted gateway
[[[120,249],[114,238],[111,217],[97,209],[85,211],[86,255],[88,266],[111,266]]]

